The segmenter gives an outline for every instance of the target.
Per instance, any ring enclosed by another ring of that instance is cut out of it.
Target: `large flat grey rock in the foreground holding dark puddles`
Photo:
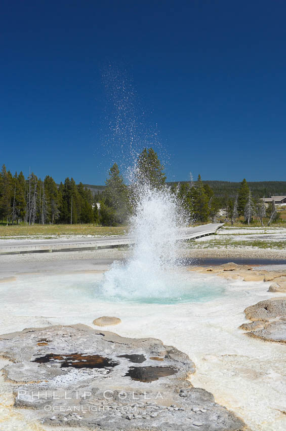
[[[39,346],[41,339],[49,343]],[[149,359],[154,351],[166,351],[164,363],[154,364]],[[185,353],[154,338],[125,338],[80,324],[28,328],[0,336],[0,354],[11,361],[3,371],[6,379],[13,380],[14,407],[28,408],[29,416],[44,426],[79,426],[79,419],[70,410],[65,411],[72,406],[77,414],[85,412],[80,416],[83,429],[182,431],[188,429],[186,422],[194,415],[192,408],[200,406],[206,410],[203,424],[197,420],[194,426],[204,431],[240,431],[246,427],[215,403],[210,392],[191,386],[188,376],[195,367]],[[134,367],[124,355],[144,355],[146,366],[136,363]],[[147,367],[151,383],[142,379],[142,368]],[[138,368],[136,378],[128,377],[131,368]],[[173,374],[166,376],[162,373],[165,368],[173,369]],[[107,376],[99,369],[108,370]],[[44,396],[33,396],[38,393]],[[154,411],[158,393],[159,414]],[[145,394],[152,404],[147,404]],[[180,408],[168,410],[170,401]],[[63,410],[54,408],[59,405]],[[131,405],[135,409],[132,412]],[[115,410],[118,407],[119,411]],[[202,413],[196,415],[199,419]]]

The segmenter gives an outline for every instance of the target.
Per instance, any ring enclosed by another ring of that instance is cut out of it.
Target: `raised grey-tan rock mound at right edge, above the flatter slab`
[[[249,320],[269,320],[286,316],[286,298],[271,298],[251,305],[244,310]]]

